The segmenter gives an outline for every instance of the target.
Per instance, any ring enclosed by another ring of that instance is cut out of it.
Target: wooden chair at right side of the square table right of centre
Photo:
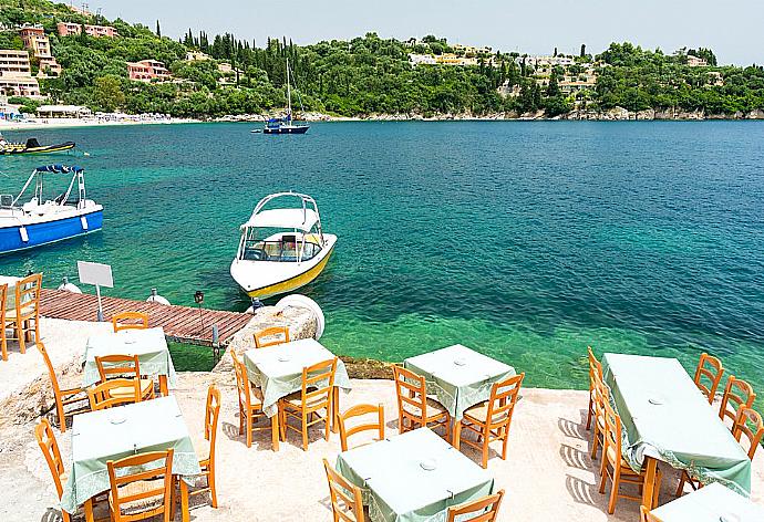
[[[509,440],[509,427],[515,413],[515,405],[519,397],[525,373],[514,375],[500,383],[494,383],[491,388],[491,398],[464,411],[462,429],[468,429],[477,434],[477,441],[462,439],[454,441],[457,446],[464,442],[482,453],[481,466],[488,467],[488,445],[494,440],[502,440],[502,459],[507,459],[507,441]],[[457,446],[458,447],[458,446]]]

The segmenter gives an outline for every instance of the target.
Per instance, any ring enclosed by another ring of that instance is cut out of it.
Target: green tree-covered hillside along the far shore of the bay
[[[20,49],[13,28],[41,24],[63,67],[60,77],[40,81],[42,93],[94,111],[216,117],[277,109],[286,104],[287,59],[300,94],[297,107],[344,116],[550,117],[615,107],[731,116],[764,109],[764,70],[717,66],[705,49],[669,55],[613,43],[593,56],[582,46],[576,56],[534,58],[465,51],[435,36],[401,42],[373,33],[306,46],[269,40],[256,48],[230,34],[190,30],[177,42],[157,35],[158,27],[109,21],[45,0],[0,0],[0,49]],[[111,25],[120,36],[59,36],[59,21]],[[186,61],[187,51],[211,59]],[[147,59],[163,62],[172,77],[131,81],[126,62]]]

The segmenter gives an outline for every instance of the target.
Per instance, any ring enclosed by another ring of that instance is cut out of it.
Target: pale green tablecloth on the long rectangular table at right
[[[751,460],[679,361],[605,354],[602,372],[634,470],[650,449],[703,483],[750,494]]]

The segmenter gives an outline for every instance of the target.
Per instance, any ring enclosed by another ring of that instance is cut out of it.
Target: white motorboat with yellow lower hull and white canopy
[[[335,243],[337,236],[323,233],[312,197],[271,194],[241,225],[230,274],[252,300],[291,292],[321,273]]]

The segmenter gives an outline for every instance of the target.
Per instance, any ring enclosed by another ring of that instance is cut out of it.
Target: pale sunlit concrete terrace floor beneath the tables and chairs
[[[43,320],[43,342],[51,357],[64,372],[81,355],[85,340],[107,327],[104,324]],[[523,369],[523,368],[518,368]],[[62,380],[79,378],[66,372]],[[60,377],[61,378],[61,377]],[[34,418],[14,411],[30,404],[18,389],[24,382],[31,387],[48,385],[42,361],[35,349],[25,355],[12,353],[0,363],[0,520],[60,520],[55,490],[32,429]],[[299,437],[289,434],[279,452],[270,449],[269,434],[255,432],[247,448],[238,435],[238,406],[233,374],[180,374],[175,395],[189,431],[202,439],[202,424],[207,386],[216,383],[223,394],[217,438],[219,508],[211,509],[207,495],[193,500],[193,521],[330,521],[328,489],[321,459],[333,462],[340,451],[339,435],[326,442],[320,429],[311,430],[309,451],[300,448]],[[65,383],[64,383],[65,385]],[[341,394],[341,408],[360,403],[383,403],[388,436],[396,432],[396,406],[393,385],[388,380],[353,380],[353,390]],[[497,488],[506,490],[500,521],[629,521],[639,520],[636,502],[619,500],[616,514],[606,513],[606,495],[597,491],[596,469],[589,458],[589,435],[584,429],[587,393],[574,390],[524,389],[513,421],[506,461],[494,452],[488,470]],[[56,430],[56,436],[60,435]],[[70,455],[71,430],[59,437],[64,461]],[[498,449],[498,445],[496,445]],[[477,453],[463,451],[477,460]],[[764,451],[754,460],[753,500],[764,503]],[[678,473],[663,466],[661,502],[672,499]],[[179,519],[179,514],[178,518]]]

